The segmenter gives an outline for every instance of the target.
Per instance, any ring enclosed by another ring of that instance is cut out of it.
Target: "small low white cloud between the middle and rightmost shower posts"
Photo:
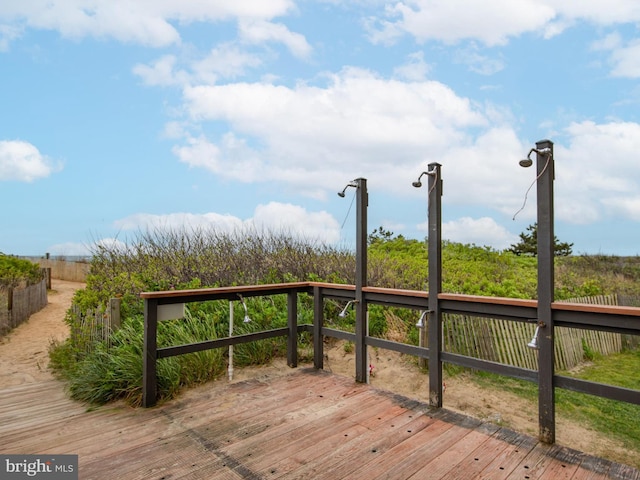
[[[422,224],[420,230],[428,232],[428,226]],[[473,243],[479,246],[491,246],[498,250],[508,248],[518,240],[517,235],[508,232],[493,218],[462,217],[442,224],[442,238],[458,243]]]

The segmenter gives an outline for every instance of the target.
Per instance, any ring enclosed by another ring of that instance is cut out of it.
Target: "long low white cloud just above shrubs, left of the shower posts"
[[[253,217],[240,219],[219,213],[171,213],[152,215],[140,213],[115,222],[120,230],[206,230],[237,233],[246,229],[282,232],[309,240],[336,243],[340,239],[340,225],[325,211],[309,212],[288,203],[270,202],[258,205]]]

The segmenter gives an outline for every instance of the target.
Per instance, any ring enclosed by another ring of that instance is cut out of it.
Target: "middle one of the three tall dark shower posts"
[[[429,164],[429,405],[442,407],[442,178],[441,165]]]

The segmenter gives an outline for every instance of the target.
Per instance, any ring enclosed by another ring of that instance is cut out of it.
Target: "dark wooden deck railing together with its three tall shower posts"
[[[519,300],[494,297],[478,297],[442,293],[442,169],[438,163],[430,163],[423,175],[428,177],[428,291],[394,290],[367,285],[367,181],[358,178],[348,187],[356,192],[356,271],[355,285],[326,283],[292,283],[255,285],[246,287],[149,292],[141,294],[145,301],[145,352],[143,404],[151,406],[157,400],[156,362],[159,358],[182,353],[250,342],[274,336],[287,336],[288,363],[297,364],[296,342],[300,331],[313,334],[314,365],[323,368],[323,338],[325,336],[350,340],[354,343],[355,379],[366,382],[367,347],[379,347],[416,355],[429,362],[429,405],[443,406],[442,365],[451,363],[463,367],[485,370],[501,375],[536,382],[538,385],[539,439],[555,443],[555,388],[598,395],[614,400],[640,404],[640,391],[587,382],[557,375],[555,371],[556,327],[585,329],[623,335],[640,335],[640,308],[608,305],[584,305],[554,301],[554,220],[553,220],[553,142],[536,143],[537,190],[537,300]],[[414,186],[420,186],[420,181]],[[346,187],[345,187],[346,189]],[[240,337],[227,337],[195,345],[157,348],[158,308],[164,305],[204,300],[236,300],[243,296],[287,294],[288,326],[267,332],[252,333]],[[297,295],[313,296],[314,321],[312,325],[297,324]],[[337,299],[354,303],[355,333],[325,327],[324,300]],[[367,305],[378,304],[422,310],[428,313],[426,346],[414,346],[370,336],[367,330]],[[529,323],[538,327],[537,369],[507,365],[476,358],[443,348],[443,315],[458,314],[469,317],[503,319],[509,322]]]

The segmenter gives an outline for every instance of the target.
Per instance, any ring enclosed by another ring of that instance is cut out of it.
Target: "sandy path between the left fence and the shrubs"
[[[47,306],[0,339],[0,388],[52,379],[49,344],[69,334],[64,316],[84,283],[54,279],[51,287]]]

